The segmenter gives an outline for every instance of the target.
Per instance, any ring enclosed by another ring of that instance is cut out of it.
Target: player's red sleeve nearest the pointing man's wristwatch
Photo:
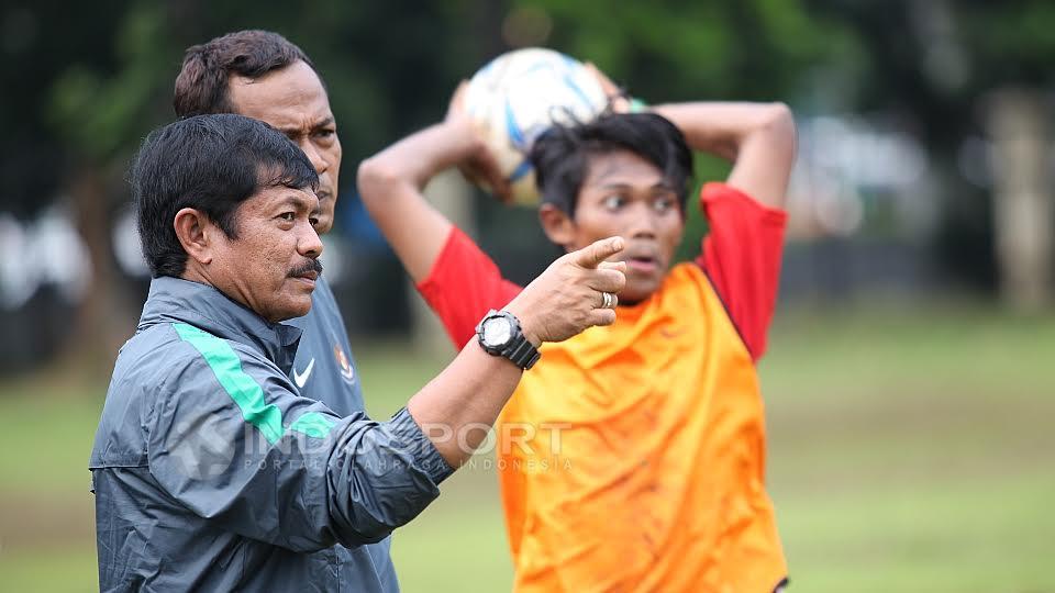
[[[473,338],[476,324],[489,310],[506,306],[521,290],[503,279],[491,258],[456,226],[429,277],[418,284],[457,348]]]

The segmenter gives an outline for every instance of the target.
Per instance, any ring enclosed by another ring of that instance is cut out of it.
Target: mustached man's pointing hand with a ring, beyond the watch
[[[615,294],[626,283],[626,264],[607,260],[625,243],[609,237],[565,254],[528,284],[506,306],[520,320],[528,339],[537,346],[614,323]]]

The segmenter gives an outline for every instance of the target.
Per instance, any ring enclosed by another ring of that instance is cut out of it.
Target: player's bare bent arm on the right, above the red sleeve
[[[795,121],[784,103],[697,102],[656,105],[693,150],[733,161],[726,183],[763,205],[784,208],[795,163]]]

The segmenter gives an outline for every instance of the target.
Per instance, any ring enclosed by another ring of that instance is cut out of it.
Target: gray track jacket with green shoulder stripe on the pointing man
[[[356,591],[334,545],[438,495],[452,469],[406,410],[378,423],[299,395],[299,337],[211,287],[152,282],[89,462],[100,589]]]

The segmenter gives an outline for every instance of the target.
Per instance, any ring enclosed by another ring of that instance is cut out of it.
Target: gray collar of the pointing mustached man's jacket
[[[256,348],[287,374],[301,335],[300,329],[290,325],[268,323],[209,284],[166,276],[155,278],[136,331],[175,322]]]

